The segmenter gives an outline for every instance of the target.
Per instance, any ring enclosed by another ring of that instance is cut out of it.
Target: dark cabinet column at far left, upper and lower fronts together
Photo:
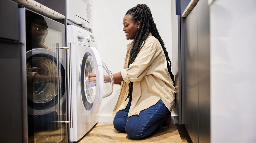
[[[26,49],[18,42],[18,4],[0,3],[1,142],[27,142]]]

